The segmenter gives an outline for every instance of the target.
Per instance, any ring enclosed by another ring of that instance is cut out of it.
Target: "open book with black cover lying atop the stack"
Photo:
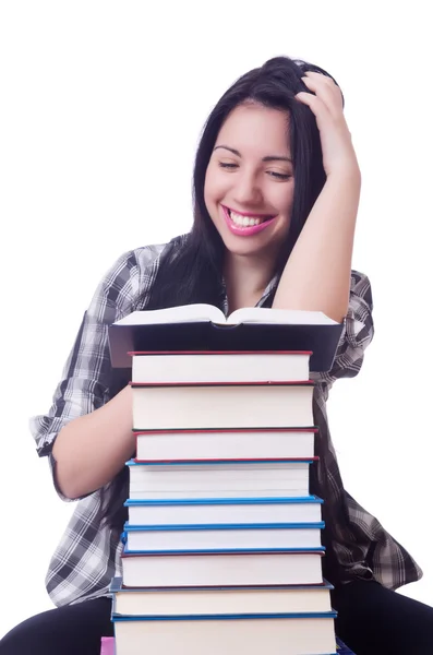
[[[132,352],[311,350],[311,370],[329,370],[342,324],[320,311],[245,307],[227,319],[212,305],[134,311],[109,326],[113,368]]]

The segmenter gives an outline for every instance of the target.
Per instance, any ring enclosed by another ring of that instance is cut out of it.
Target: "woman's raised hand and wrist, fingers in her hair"
[[[360,175],[351,135],[342,114],[339,87],[330,78],[313,71],[306,71],[302,81],[313,93],[300,92],[296,94],[296,98],[308,105],[315,116],[326,176]]]

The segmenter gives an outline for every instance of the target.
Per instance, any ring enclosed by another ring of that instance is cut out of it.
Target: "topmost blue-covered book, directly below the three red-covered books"
[[[129,461],[130,498],[309,496],[309,462],[143,464]]]

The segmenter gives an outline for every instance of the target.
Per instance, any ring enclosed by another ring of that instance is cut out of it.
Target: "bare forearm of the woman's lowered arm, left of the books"
[[[57,484],[67,498],[80,498],[109,483],[135,449],[132,393],[127,386],[104,407],[67,424],[52,454]]]

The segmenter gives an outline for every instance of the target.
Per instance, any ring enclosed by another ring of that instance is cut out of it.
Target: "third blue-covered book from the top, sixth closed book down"
[[[128,549],[147,551],[320,548],[322,529],[322,523],[124,526]]]

